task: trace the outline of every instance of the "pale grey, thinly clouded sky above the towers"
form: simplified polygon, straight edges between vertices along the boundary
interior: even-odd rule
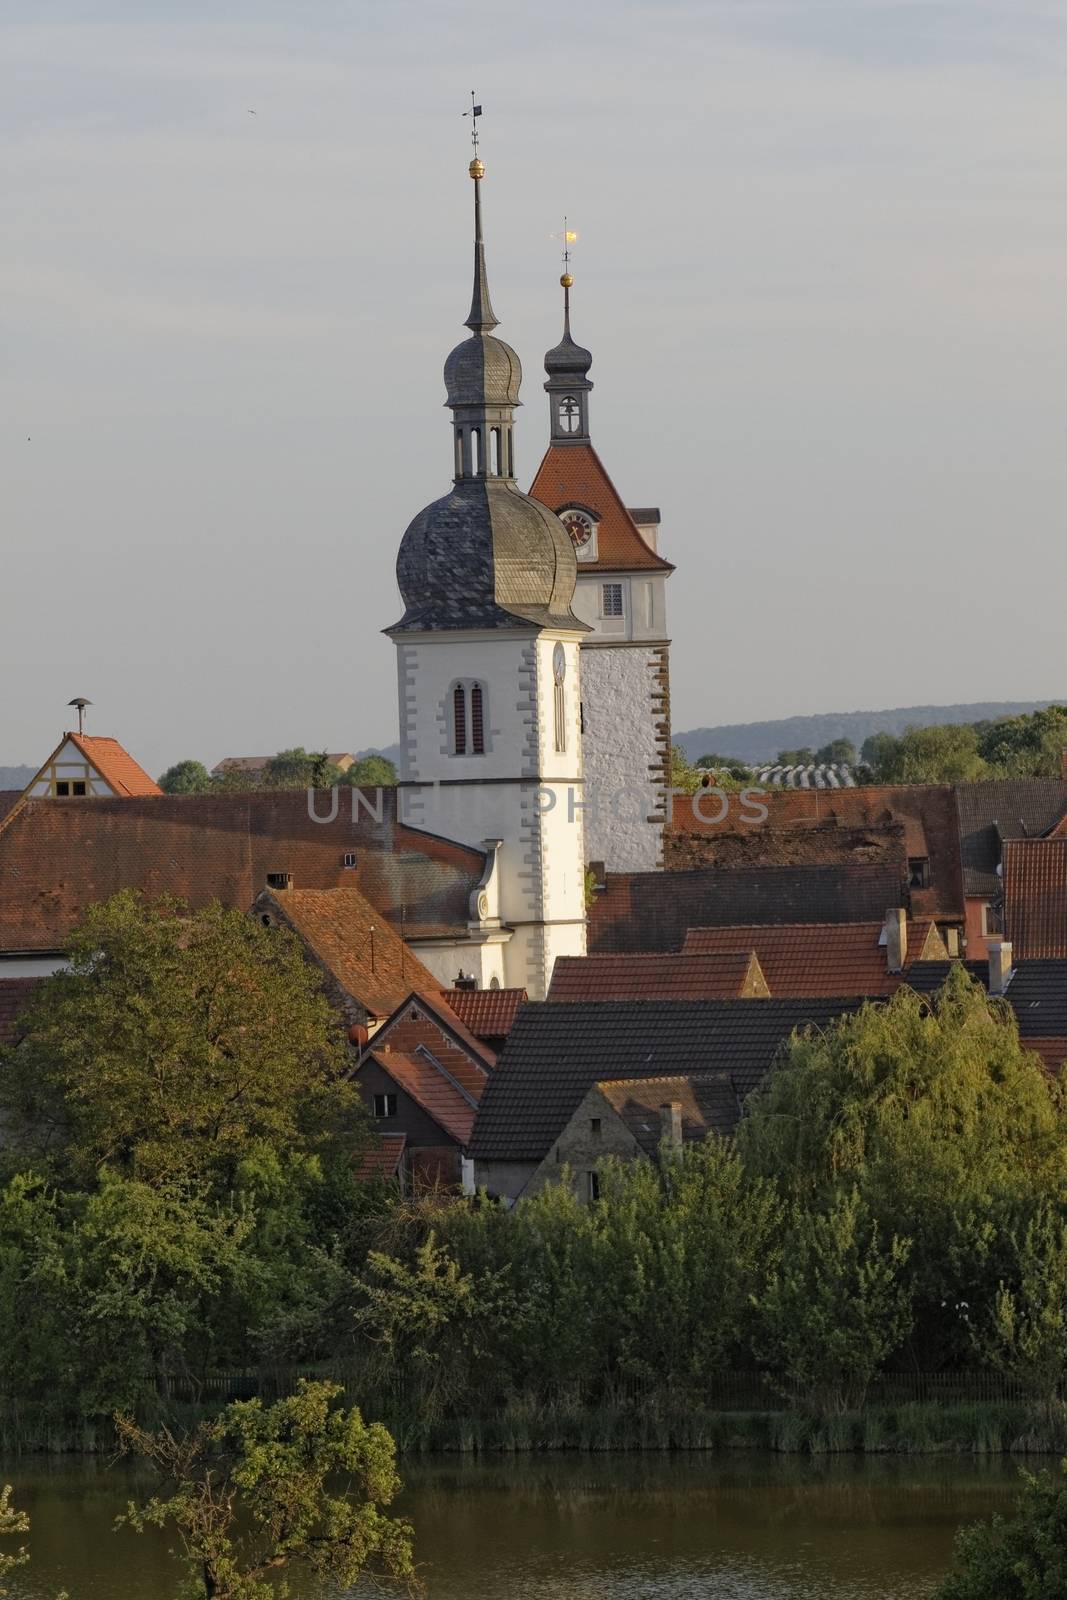
[[[397,734],[477,90],[501,334],[593,352],[677,728],[1062,696],[1067,6],[0,0],[0,763]]]

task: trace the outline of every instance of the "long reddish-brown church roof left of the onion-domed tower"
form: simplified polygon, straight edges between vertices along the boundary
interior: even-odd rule
[[[379,798],[381,821],[366,810]],[[269,872],[298,890],[358,888],[413,939],[466,933],[482,851],[405,827],[395,789],[336,800],[331,822],[309,816],[304,790],[27,800],[0,827],[0,950],[62,949],[85,907],[122,888],[248,910]],[[331,797],[315,805],[325,818]]]

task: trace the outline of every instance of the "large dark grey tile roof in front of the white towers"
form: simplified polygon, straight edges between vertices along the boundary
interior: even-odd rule
[[[806,1022],[859,1000],[637,1000],[526,1005],[485,1086],[470,1146],[483,1162],[539,1162],[590,1085],[728,1072],[741,1098]]]

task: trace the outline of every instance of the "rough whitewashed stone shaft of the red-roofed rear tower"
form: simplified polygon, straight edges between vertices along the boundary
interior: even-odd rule
[[[656,661],[640,648],[582,651],[585,859],[609,872],[654,872],[662,864],[659,757],[653,694]]]

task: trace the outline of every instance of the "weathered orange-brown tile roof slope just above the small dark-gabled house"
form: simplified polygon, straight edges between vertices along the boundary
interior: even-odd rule
[[[389,1016],[434,974],[357,888],[266,890],[256,910],[290,926],[309,952],[371,1016]]]

